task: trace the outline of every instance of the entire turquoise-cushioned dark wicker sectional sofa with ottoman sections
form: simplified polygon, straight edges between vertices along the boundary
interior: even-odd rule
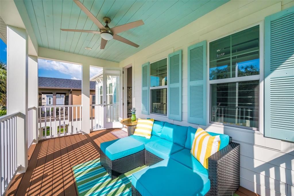
[[[101,165],[112,178],[147,165],[132,175],[132,195],[233,195],[240,185],[240,144],[209,132],[221,142],[205,169],[190,153],[195,132],[154,121],[150,139],[131,135],[101,143]]]

